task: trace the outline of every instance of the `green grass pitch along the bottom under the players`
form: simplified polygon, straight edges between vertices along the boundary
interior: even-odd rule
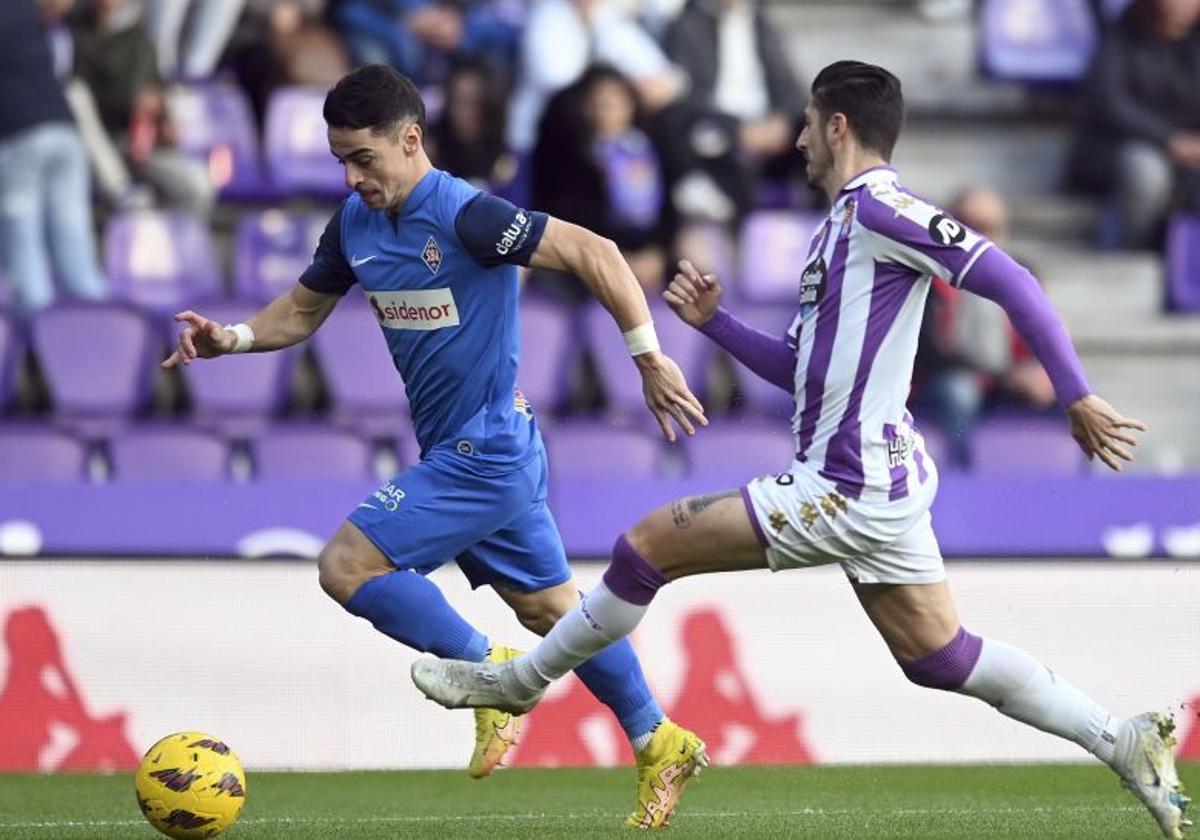
[[[1200,764],[1181,767],[1200,790]],[[251,773],[230,840],[619,838],[634,770]],[[152,840],[128,775],[0,775],[5,840]],[[709,768],[667,838],[1153,840],[1099,766]]]

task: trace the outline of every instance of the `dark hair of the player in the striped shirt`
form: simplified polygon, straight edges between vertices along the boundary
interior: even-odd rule
[[[900,79],[883,67],[833,62],[812,79],[812,106],[822,121],[844,114],[859,143],[892,160],[904,125],[904,92]]]

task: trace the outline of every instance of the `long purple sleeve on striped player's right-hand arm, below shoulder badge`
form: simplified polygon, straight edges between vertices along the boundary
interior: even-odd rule
[[[1063,408],[1092,392],[1067,328],[1028,269],[991,247],[964,277],[962,288],[1000,304],[1008,313],[1016,332],[1046,368]]]

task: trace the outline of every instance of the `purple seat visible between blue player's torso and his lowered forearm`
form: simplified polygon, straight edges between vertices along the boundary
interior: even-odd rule
[[[517,388],[534,412],[552,414],[570,395],[580,353],[575,313],[544,298],[521,299],[521,368]]]

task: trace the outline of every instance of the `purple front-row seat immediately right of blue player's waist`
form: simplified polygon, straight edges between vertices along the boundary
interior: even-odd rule
[[[647,432],[601,422],[559,422],[542,430],[552,476],[652,479],[661,446]]]

